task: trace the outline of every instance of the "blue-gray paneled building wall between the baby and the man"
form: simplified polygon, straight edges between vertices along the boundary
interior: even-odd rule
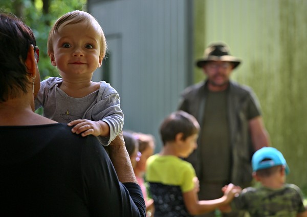
[[[119,92],[124,129],[154,135],[159,151],[159,125],[192,82],[192,1],[89,1],[87,7],[109,49],[93,79]]]

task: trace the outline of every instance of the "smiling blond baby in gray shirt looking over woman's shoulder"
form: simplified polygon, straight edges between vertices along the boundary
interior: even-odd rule
[[[35,109],[43,116],[73,126],[81,136],[99,136],[108,145],[122,131],[124,115],[117,91],[105,81],[93,82],[101,67],[106,40],[98,21],[84,11],[56,20],[48,37],[48,56],[59,77],[43,80]]]

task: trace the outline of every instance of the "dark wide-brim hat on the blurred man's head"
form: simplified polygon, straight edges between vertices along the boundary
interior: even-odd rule
[[[230,55],[229,47],[222,42],[209,45],[205,50],[204,57],[196,61],[196,66],[203,68],[204,64],[209,61],[232,62],[233,69],[235,69],[241,62],[239,58]]]

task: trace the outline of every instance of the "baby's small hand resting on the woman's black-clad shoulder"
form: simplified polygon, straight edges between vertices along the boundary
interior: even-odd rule
[[[69,126],[74,126],[72,132],[81,134],[81,136],[108,136],[109,126],[104,121],[91,121],[86,119],[78,119],[68,123]]]

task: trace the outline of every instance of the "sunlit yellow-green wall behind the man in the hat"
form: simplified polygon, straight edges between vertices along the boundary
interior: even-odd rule
[[[243,63],[232,78],[257,94],[272,146],[286,157],[288,182],[307,192],[307,1],[194,0],[194,60],[224,41]],[[204,79],[194,70],[194,81]]]

